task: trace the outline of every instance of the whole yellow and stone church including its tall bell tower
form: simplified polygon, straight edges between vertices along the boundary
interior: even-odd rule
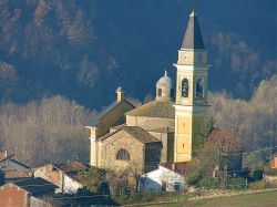
[[[86,126],[92,166],[119,170],[135,167],[144,174],[160,164],[192,161],[196,135],[208,120],[209,66],[194,11],[177,54],[176,81],[165,71],[156,82],[154,101],[135,107],[119,87],[116,101]]]

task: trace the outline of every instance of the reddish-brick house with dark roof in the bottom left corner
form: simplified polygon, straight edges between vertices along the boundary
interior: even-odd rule
[[[0,206],[49,206],[55,188],[55,185],[42,178],[29,178],[9,183],[0,187]],[[50,200],[48,201],[48,199]]]

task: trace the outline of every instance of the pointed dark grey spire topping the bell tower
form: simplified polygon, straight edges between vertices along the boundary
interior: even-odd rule
[[[205,49],[197,15],[193,11],[186,28],[186,34],[181,49]]]

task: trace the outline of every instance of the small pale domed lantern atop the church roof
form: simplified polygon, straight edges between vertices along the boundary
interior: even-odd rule
[[[167,72],[164,72],[162,76],[156,82],[156,100],[157,101],[170,101],[173,100],[174,95],[174,83],[173,80],[167,75]]]

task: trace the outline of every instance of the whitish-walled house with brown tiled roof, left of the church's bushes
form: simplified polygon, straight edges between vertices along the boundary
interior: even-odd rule
[[[78,177],[78,172],[88,169],[88,166],[79,162],[64,164],[48,164],[34,169],[34,177],[42,177],[58,186],[55,193],[75,194],[84,187]]]

